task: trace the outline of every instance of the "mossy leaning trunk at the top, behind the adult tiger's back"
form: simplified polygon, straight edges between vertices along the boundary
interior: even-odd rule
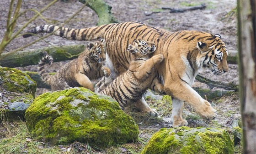
[[[81,3],[85,4],[87,7],[94,10],[99,17],[97,25],[104,25],[110,23],[118,22],[112,15],[112,7],[107,5],[104,0],[79,0]]]

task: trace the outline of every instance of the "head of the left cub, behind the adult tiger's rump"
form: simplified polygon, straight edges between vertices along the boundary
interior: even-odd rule
[[[92,60],[102,62],[106,59],[105,39],[102,39],[101,41],[90,42],[87,45],[87,49],[90,51]]]

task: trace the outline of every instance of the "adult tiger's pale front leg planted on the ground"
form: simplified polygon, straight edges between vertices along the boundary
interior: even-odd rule
[[[182,110],[184,102],[179,99],[172,99],[172,114],[171,123],[172,127],[187,126],[187,120],[182,118]]]

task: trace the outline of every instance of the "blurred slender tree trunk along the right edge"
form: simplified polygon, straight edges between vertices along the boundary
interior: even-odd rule
[[[256,0],[238,0],[243,154],[256,154]]]

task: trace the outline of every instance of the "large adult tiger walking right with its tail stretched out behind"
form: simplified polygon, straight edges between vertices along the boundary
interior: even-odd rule
[[[212,35],[201,31],[170,32],[155,26],[138,22],[122,22],[100,25],[85,29],[69,29],[53,25],[41,25],[29,33],[53,33],[70,40],[106,40],[106,62],[112,70],[110,77],[116,78],[118,74],[128,69],[131,55],[127,51],[129,42],[137,38],[155,42],[157,50],[154,55],[162,54],[164,60],[155,70],[164,84],[166,94],[172,96],[171,122],[173,127],[187,125],[182,119],[184,101],[192,105],[203,119],[214,119],[216,110],[191,88],[192,83],[201,68],[209,68],[215,75],[229,70],[225,44],[220,35]],[[23,37],[32,34],[23,35]],[[116,75],[114,74],[116,72]],[[111,78],[109,78],[111,79]],[[151,115],[158,114],[150,109],[143,97],[135,102],[139,109]]]

